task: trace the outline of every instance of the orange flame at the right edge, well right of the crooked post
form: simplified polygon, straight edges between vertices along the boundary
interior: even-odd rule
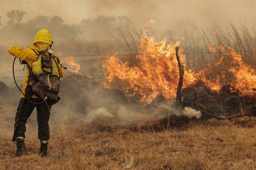
[[[211,47],[216,51],[215,48]],[[219,91],[223,85],[230,84],[230,91],[239,92],[240,95],[255,95],[256,88],[256,70],[252,66],[242,61],[242,55],[235,52],[229,46],[220,46],[220,54],[218,61],[215,64],[208,65],[203,72],[219,72],[215,76],[209,74],[202,75],[202,80],[207,82],[210,88]],[[209,49],[209,51],[211,51]],[[230,52],[226,52],[230,51]],[[217,56],[218,57],[218,56]],[[235,89],[234,89],[235,88]]]

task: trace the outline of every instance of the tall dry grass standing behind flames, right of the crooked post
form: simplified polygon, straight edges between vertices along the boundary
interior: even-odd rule
[[[243,61],[255,68],[256,31],[254,28],[247,28],[245,23],[235,26],[232,23],[221,25],[212,21],[212,28],[209,30],[195,27],[195,35],[196,37],[193,37],[185,33],[185,40],[181,43],[183,49],[185,49],[185,53],[195,53],[186,54],[189,68],[195,69],[196,71],[201,70],[206,64],[214,63],[221,55],[225,55],[218,48],[216,48],[217,53],[207,54],[209,52],[207,49],[209,43],[214,47],[227,45],[235,51],[241,51]]]

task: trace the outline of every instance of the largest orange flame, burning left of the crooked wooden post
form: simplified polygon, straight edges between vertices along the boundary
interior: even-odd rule
[[[156,42],[153,37],[146,35],[148,30],[143,29],[141,45],[136,56],[137,65],[130,67],[129,62],[121,62],[117,57],[110,57],[104,64],[108,82],[105,88],[117,88],[128,96],[139,95],[140,101],[152,102],[158,95],[169,99],[175,96],[179,68],[175,56],[175,47],[179,42],[166,46],[166,39]],[[183,50],[180,50],[180,59],[186,65]],[[184,74],[185,85],[195,81],[191,71]]]

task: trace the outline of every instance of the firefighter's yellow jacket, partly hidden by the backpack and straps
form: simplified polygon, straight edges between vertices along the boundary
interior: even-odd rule
[[[49,45],[44,42],[39,42],[39,43],[36,42],[33,45],[30,45],[29,47],[36,49],[38,51],[45,51],[48,46]],[[26,61],[28,63],[28,65],[30,67],[32,67],[32,63],[38,58],[38,55],[35,54],[35,52],[30,48],[21,48],[19,46],[14,46],[12,48],[9,48],[8,52],[19,59],[23,59],[24,61]],[[49,55],[48,52],[42,52],[42,53],[45,55]],[[64,69],[61,67],[61,64],[58,62],[57,57],[54,57],[54,59],[58,63],[58,68],[60,68],[60,77],[64,77],[64,74],[65,74]],[[23,88],[22,88],[22,91],[24,94],[25,94],[25,89],[28,84],[28,78],[29,78],[29,68],[28,68],[28,66],[26,66],[26,68],[28,69],[28,71],[26,73],[26,76],[23,79]],[[30,80],[30,82],[31,82],[31,80]],[[23,94],[21,94],[20,97],[25,98],[23,96]],[[33,95],[32,98],[38,98],[38,97]]]

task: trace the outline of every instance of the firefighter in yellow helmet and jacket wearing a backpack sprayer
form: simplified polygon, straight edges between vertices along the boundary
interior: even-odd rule
[[[64,76],[64,68],[62,68],[59,59],[52,54],[52,43],[51,33],[46,29],[41,29],[36,34],[35,40],[33,44],[29,46],[29,48],[21,48],[20,46],[9,48],[9,53],[19,59],[24,60],[26,62],[26,68],[28,69],[26,76],[23,79],[22,94],[15,116],[14,135],[12,138],[12,141],[16,141],[17,145],[15,156],[22,156],[27,154],[27,149],[24,143],[26,122],[35,108],[37,110],[38,139],[41,142],[39,154],[44,157],[47,156],[48,153],[47,144],[50,137],[48,122],[51,112],[50,110],[51,106],[58,102],[60,99],[58,97],[58,93],[56,93],[56,91],[58,92],[59,87],[59,81],[57,80]],[[44,60],[44,58],[47,58],[48,60]],[[50,64],[50,67],[45,67],[50,69],[52,72],[45,73],[46,71],[44,70],[44,61],[48,61],[47,64],[48,66]],[[33,71],[36,72],[36,74],[33,73]],[[54,93],[49,91],[49,89],[46,89],[47,95],[38,95],[34,93],[35,91],[32,91],[32,89],[35,87],[41,87],[36,86],[40,85],[40,83],[38,83],[39,79],[40,81],[42,80],[42,78],[38,77],[38,75],[46,75],[46,77],[48,76],[48,81],[45,80],[45,82],[50,86],[49,89],[52,88],[51,80],[55,80],[57,84],[54,84],[53,82],[55,87]],[[49,79],[49,77],[52,77],[52,79]],[[28,88],[29,85],[32,85],[31,88]],[[42,89],[44,88],[41,87],[40,91],[42,91]],[[31,96],[28,97],[29,95],[27,93],[31,93]],[[50,99],[51,95],[48,94],[57,95],[58,100],[52,101]],[[49,99],[47,99],[47,97]]]

